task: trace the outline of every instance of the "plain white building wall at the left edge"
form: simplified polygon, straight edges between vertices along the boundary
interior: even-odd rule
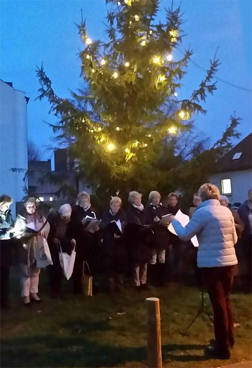
[[[16,216],[15,202],[24,197],[24,172],[11,172],[12,167],[28,169],[27,103],[25,92],[0,80],[0,194],[14,199],[11,206]]]

